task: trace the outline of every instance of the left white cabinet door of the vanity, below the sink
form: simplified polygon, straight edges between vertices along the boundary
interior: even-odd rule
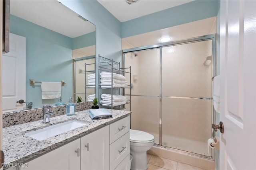
[[[80,170],[80,139],[27,163],[28,167],[20,170]]]

